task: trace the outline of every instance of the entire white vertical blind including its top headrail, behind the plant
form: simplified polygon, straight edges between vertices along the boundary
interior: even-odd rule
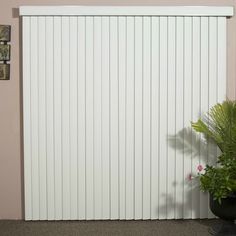
[[[210,218],[190,128],[226,96],[231,7],[21,7],[26,220]]]

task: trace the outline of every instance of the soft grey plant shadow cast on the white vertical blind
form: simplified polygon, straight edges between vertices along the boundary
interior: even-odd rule
[[[175,150],[176,162],[178,161],[178,157],[183,157],[183,161],[190,158],[192,167],[189,171],[184,170],[184,175],[183,178],[181,177],[181,180],[176,179],[173,181],[172,186],[174,191],[172,191],[172,193],[163,194],[161,196],[166,199],[167,206],[160,206],[159,214],[167,215],[168,218],[169,209],[172,209],[172,212],[173,209],[175,209],[175,218],[200,218],[202,215],[200,212],[201,204],[208,206],[208,197],[207,194],[200,193],[199,179],[195,178],[190,181],[187,172],[189,174],[193,173],[196,175],[198,164],[205,165],[206,163],[214,163],[217,148],[211,140],[197,134],[191,127],[182,129],[176,135],[169,135],[168,145],[170,148]],[[196,164],[196,166],[194,164]],[[183,195],[181,197],[178,196],[178,199],[182,198],[182,201],[178,202],[178,199],[176,198],[178,194],[176,189],[181,188],[183,189]],[[205,195],[203,201],[206,202],[200,203],[200,194],[202,194],[202,196]],[[207,212],[208,209],[204,209],[204,213],[207,214]]]

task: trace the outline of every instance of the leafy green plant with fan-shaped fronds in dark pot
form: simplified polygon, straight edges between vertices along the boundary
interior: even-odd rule
[[[236,101],[216,104],[202,119],[191,124],[221,150],[216,165],[207,165],[204,173],[199,172],[201,189],[221,202],[236,193]]]

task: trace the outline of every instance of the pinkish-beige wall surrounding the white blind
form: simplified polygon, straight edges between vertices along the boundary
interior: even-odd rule
[[[0,81],[0,219],[21,219],[23,212],[22,78],[19,17],[21,5],[235,5],[233,0],[0,0],[0,24],[12,26],[11,80]],[[236,17],[228,20],[229,98],[236,91]]]

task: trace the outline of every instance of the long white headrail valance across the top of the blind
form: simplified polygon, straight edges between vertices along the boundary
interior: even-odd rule
[[[21,16],[233,16],[233,6],[21,6]]]

